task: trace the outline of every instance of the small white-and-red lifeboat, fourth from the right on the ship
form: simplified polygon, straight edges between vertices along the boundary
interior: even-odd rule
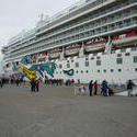
[[[61,52],[62,52],[61,48],[55,48],[55,49],[49,50],[48,55],[50,58],[58,58]]]

